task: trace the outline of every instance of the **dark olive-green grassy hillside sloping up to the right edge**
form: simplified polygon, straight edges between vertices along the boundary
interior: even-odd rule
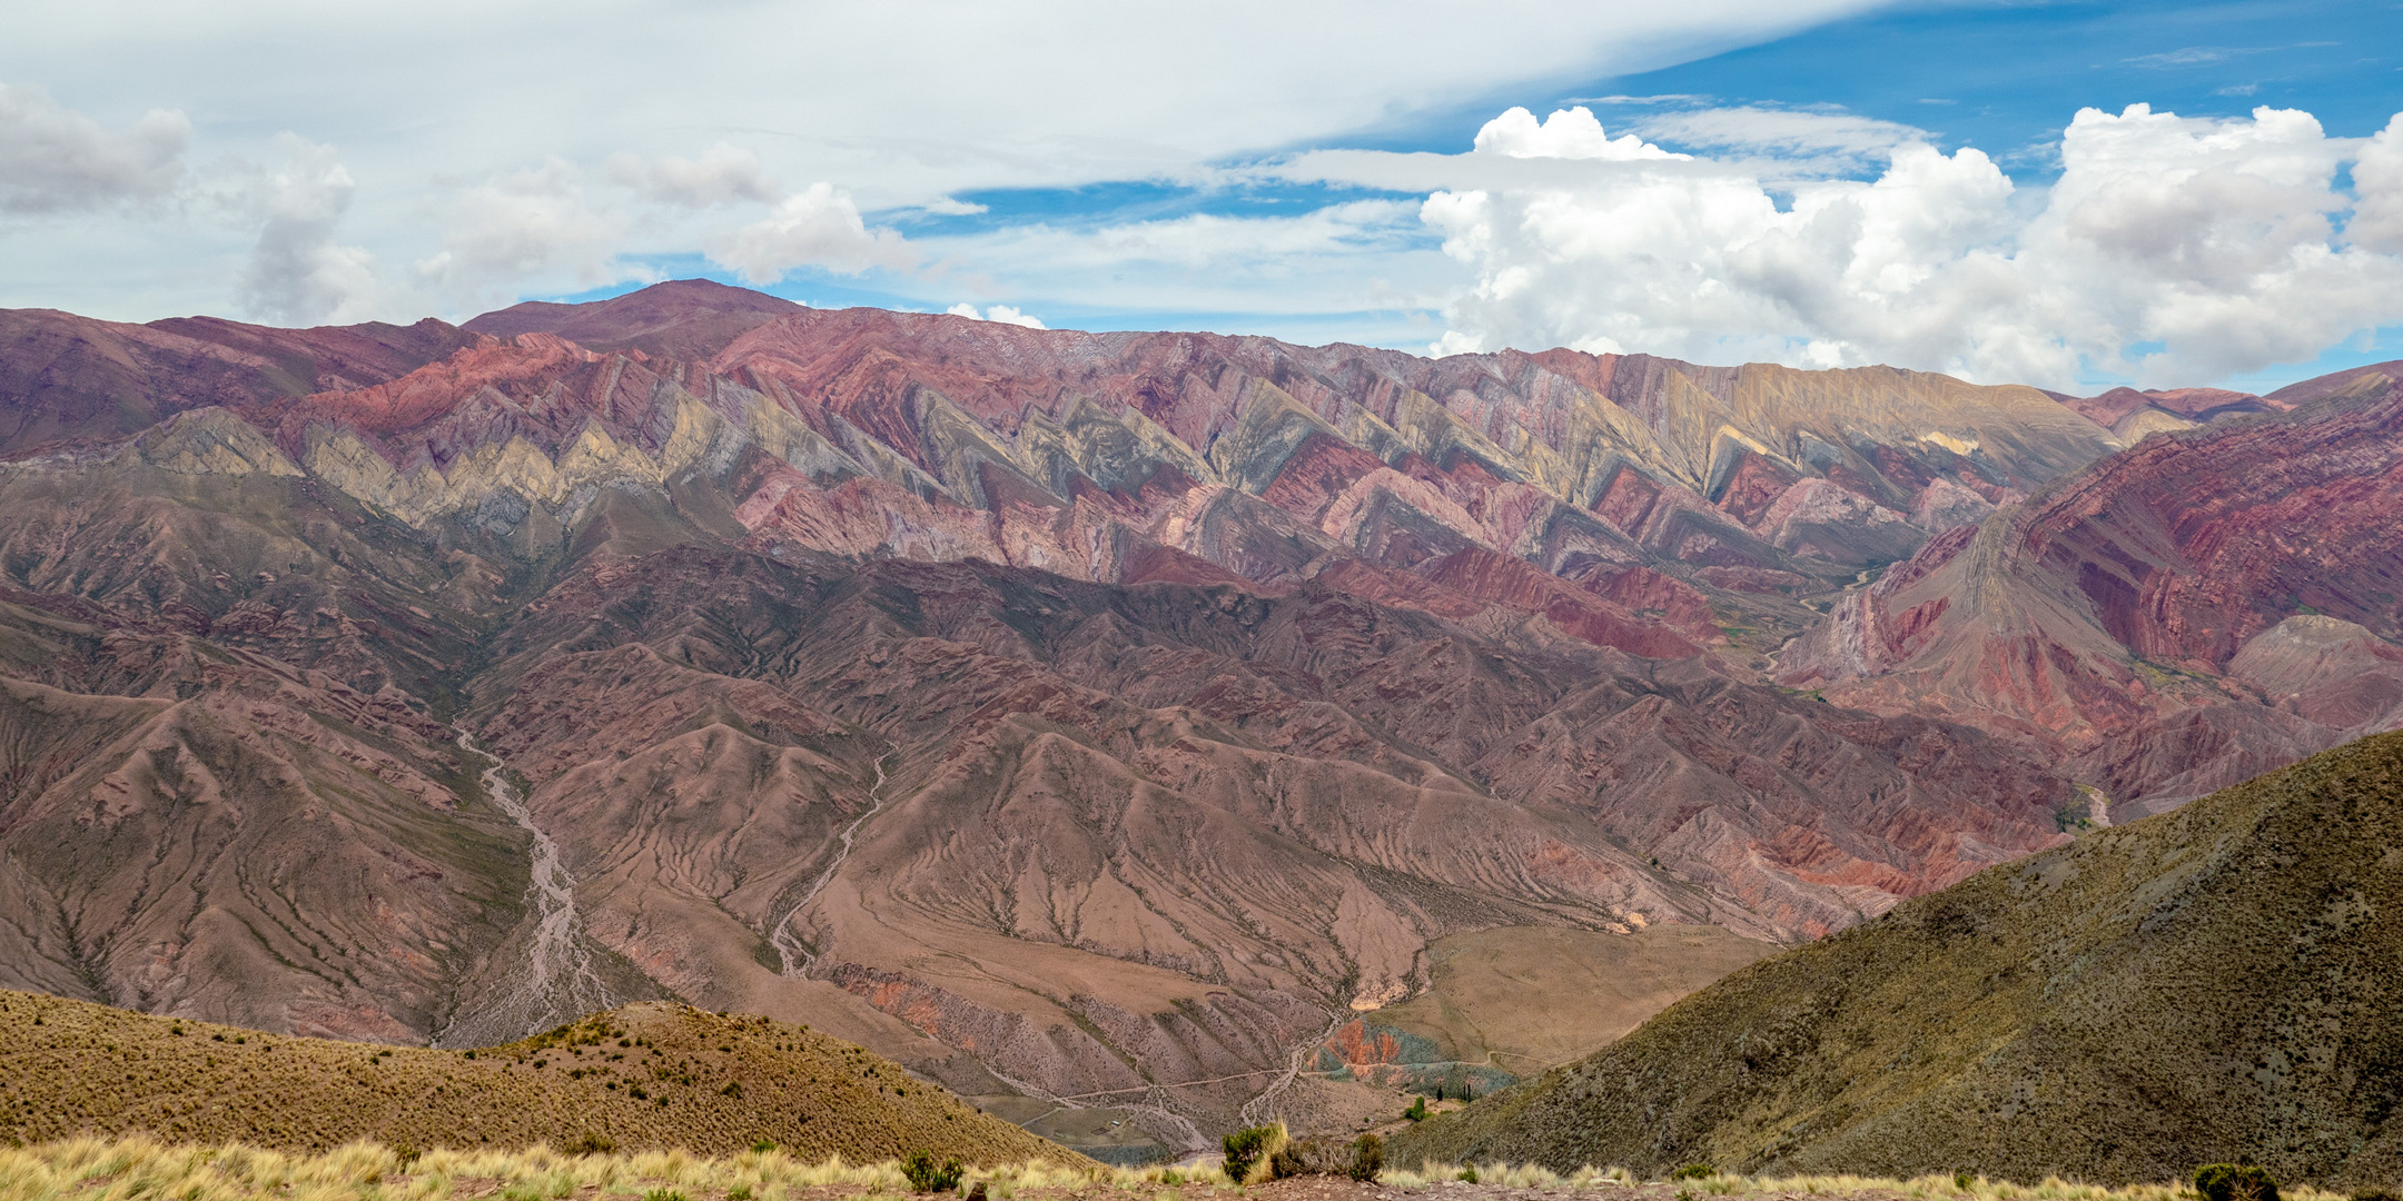
[[[1389,1163],[2403,1177],[2403,733],[1992,867],[1399,1136]]]

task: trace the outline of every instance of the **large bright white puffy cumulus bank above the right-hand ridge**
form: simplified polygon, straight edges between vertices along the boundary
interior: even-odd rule
[[[1776,135],[1754,115],[1728,130],[1747,123],[1752,142]],[[1788,137],[1862,149],[1896,132],[1795,125]],[[1478,168],[1545,151],[1591,166],[1555,178]],[[1759,163],[1675,161],[1608,139],[1579,110],[1540,127],[1504,113],[1451,159],[1411,163],[1490,183],[1439,187],[1420,209],[1475,276],[1447,307],[1437,353],[1896,363],[2074,387],[2086,365],[2225,377],[2403,319],[2403,125],[2365,144],[2297,110],[2088,108],[2062,137],[2059,180],[2033,195],[1978,149],[1910,137],[1874,180],[1788,183],[1781,199]],[[2355,195],[2336,185],[2348,161]]]

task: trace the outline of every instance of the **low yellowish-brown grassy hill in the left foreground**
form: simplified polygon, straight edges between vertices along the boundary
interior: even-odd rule
[[[485,1050],[269,1035],[0,990],[0,1141],[690,1148],[1084,1163],[805,1026],[630,1004]]]

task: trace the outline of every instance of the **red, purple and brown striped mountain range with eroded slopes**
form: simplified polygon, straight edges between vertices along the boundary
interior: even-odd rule
[[[2396,380],[5,312],[0,985],[1353,1122],[1528,1071],[1382,1026],[1435,944],[1800,944],[2403,725]]]

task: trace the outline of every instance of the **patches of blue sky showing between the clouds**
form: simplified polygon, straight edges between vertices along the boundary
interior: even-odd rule
[[[1466,147],[1499,108],[1536,113],[1584,103],[1605,127],[1663,113],[1778,106],[1841,110],[1927,130],[1939,149],[1978,147],[2026,185],[2059,175],[2062,127],[2079,108],[2122,110],[2151,103],[2180,115],[2244,118],[2256,106],[2302,108],[2333,137],[2369,137],[2403,110],[2403,5],[2396,2],[1944,2],[1896,5],[1826,22],[1759,46],[1706,55],[1663,70],[1603,74],[1543,86],[1499,89],[1444,113],[1415,115],[1329,139],[1377,151]],[[1677,139],[1660,144],[1682,149]],[[1278,147],[1247,159],[1274,159]],[[1240,166],[1235,159],[1223,166]],[[1862,173],[1867,175],[1867,171]],[[1411,192],[1331,185],[1177,185],[1113,180],[1086,187],[973,190],[968,216],[872,214],[899,219],[916,235],[966,238],[1048,223],[1101,228],[1192,214],[1264,216],[1336,199],[1415,199]],[[1439,238],[1427,231],[1425,247]],[[661,259],[668,274],[735,281],[697,255]],[[634,283],[586,288],[601,298]],[[800,271],[764,291],[812,305],[928,307],[916,288],[877,288],[872,279]],[[1266,331],[1300,341],[1367,341],[1423,351],[1442,317],[1435,310],[1180,310],[1113,307],[1077,295],[1019,293],[1016,307],[1055,327]],[[2403,358],[2403,322],[2365,329],[2302,363],[2273,363],[2218,380],[2271,389],[2360,363]],[[2127,372],[2086,370],[2107,387]]]

